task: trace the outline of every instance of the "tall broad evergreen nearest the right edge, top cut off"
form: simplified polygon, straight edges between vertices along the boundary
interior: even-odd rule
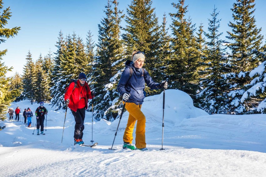
[[[230,110],[232,114],[243,114],[249,112],[253,107],[257,107],[256,100],[245,100],[241,102],[243,93],[248,89],[246,84],[251,82],[248,72],[257,67],[261,62],[258,52],[261,51],[263,36],[260,34],[261,28],[256,27],[254,17],[254,0],[237,0],[231,9],[234,22],[229,22],[232,32],[227,32],[228,39],[233,42],[229,45],[232,50],[230,71],[232,77],[228,79],[230,87]]]

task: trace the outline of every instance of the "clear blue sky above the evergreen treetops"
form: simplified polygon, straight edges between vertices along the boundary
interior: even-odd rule
[[[86,39],[88,30],[91,30],[93,39],[98,42],[98,24],[105,17],[103,10],[107,0],[3,0],[4,8],[11,8],[12,17],[8,21],[7,28],[20,26],[21,30],[14,38],[9,38],[0,45],[0,50],[7,49],[7,55],[3,57],[6,66],[13,66],[12,72],[7,76],[13,76],[17,71],[23,73],[26,55],[28,51],[32,53],[33,60],[37,60],[39,55],[47,55],[49,49],[56,51],[56,42],[58,33],[62,30],[64,36],[72,34]],[[119,8],[124,10],[131,3],[131,0],[118,0]],[[152,7],[155,7],[155,13],[161,24],[163,14],[167,15],[168,25],[171,23],[169,12],[175,13],[176,9],[172,7],[171,2],[177,0],[154,0]],[[226,40],[226,31],[231,31],[228,27],[232,19],[233,3],[236,0],[185,0],[185,5],[189,5],[187,15],[192,18],[192,23],[198,27],[202,22],[204,30],[208,27],[208,18],[213,12],[214,5],[219,11],[220,32],[223,32],[222,40]],[[262,27],[261,34],[266,35],[265,24],[265,0],[255,0],[256,11],[254,13],[257,27]],[[3,10],[3,9],[2,9]],[[1,12],[2,12],[1,10]],[[125,22],[122,22],[125,26]],[[171,31],[170,31],[171,32]]]

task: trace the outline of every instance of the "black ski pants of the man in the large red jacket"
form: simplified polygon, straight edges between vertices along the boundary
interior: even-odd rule
[[[74,138],[75,139],[82,139],[83,137],[83,130],[84,130],[84,119],[85,119],[85,107],[81,109],[77,109],[77,111],[72,111],[73,116],[75,117],[75,131],[74,131]]]

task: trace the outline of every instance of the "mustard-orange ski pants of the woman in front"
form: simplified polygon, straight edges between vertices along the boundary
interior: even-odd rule
[[[137,121],[136,138],[135,138],[136,148],[146,147],[146,141],[145,141],[146,118],[143,112],[140,111],[141,105],[136,105],[135,103],[126,103],[125,108],[129,112],[129,116],[125,133],[123,136],[123,141],[130,144],[132,143],[133,129],[135,126],[135,122]]]

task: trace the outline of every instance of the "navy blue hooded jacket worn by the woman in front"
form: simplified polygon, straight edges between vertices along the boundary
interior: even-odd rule
[[[151,89],[161,89],[160,84],[153,81],[150,77],[148,71],[144,69],[144,74],[142,73],[142,69],[135,68],[134,63],[131,60],[126,61],[126,69],[121,74],[120,81],[117,85],[118,92],[123,95],[124,93],[129,93],[130,97],[127,100],[129,103],[135,103],[136,105],[140,105],[143,103],[145,98],[144,89],[145,83]],[[129,79],[130,69],[133,69],[132,76]]]

